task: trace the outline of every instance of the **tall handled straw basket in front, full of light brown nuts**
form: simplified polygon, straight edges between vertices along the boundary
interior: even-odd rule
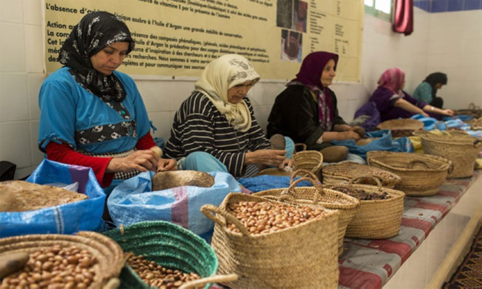
[[[242,201],[282,204],[254,195],[230,193],[219,207],[202,206],[202,213],[216,222],[211,246],[219,258],[219,273],[240,276],[229,283],[230,288],[337,287],[337,211],[325,209],[324,217],[273,233],[250,234],[227,211],[231,204]],[[240,233],[229,230],[227,221]]]

